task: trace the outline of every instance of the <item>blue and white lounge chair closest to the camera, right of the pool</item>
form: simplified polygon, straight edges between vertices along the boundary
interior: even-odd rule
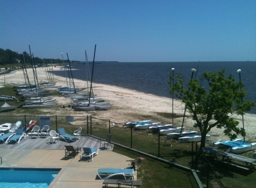
[[[97,176],[99,176],[101,180],[109,179],[113,176],[123,176],[125,180],[126,176],[128,176],[128,180],[132,180],[134,170],[130,168],[99,168]]]

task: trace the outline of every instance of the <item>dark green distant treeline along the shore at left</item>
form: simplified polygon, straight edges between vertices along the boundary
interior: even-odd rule
[[[41,59],[39,57],[32,57],[30,58],[30,54],[24,51],[23,53],[17,53],[14,52],[10,49],[1,49],[0,48],[0,66],[4,67],[5,65],[19,65],[23,64],[24,65],[24,59],[25,59],[25,64],[26,66],[31,66],[31,65],[45,65],[45,64],[61,64],[63,63],[62,59]],[[67,63],[67,60],[64,60]],[[73,61],[72,63],[77,63],[80,61]]]

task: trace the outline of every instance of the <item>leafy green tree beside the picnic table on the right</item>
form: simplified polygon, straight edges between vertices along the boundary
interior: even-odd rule
[[[226,77],[225,69],[203,74],[202,79],[208,82],[208,89],[197,79],[190,79],[188,89],[185,89],[184,79],[180,75],[175,77],[178,79],[175,84],[169,82],[170,93],[185,103],[185,109],[195,120],[193,127],[201,132],[201,149],[205,147],[206,134],[213,127],[224,128],[224,134],[231,139],[239,134],[246,135],[243,128],[237,127],[239,122],[232,118],[232,115],[243,115],[255,106],[252,101],[243,101],[248,92],[242,89],[242,82],[235,82],[232,74]],[[171,74],[170,78],[173,78]]]

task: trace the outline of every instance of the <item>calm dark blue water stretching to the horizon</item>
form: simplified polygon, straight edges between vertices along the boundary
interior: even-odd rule
[[[226,73],[233,74],[237,82],[239,81],[239,74],[236,71],[241,69],[241,81],[245,85],[244,89],[248,91],[246,99],[256,102],[256,61],[102,62],[94,64],[92,81],[171,98],[168,74],[172,74],[172,68],[175,68],[174,74],[180,74],[187,80],[192,76],[192,68],[197,69],[197,74],[193,74],[193,78],[198,79],[202,77],[204,72],[215,72],[225,68]],[[71,69],[74,78],[85,81],[87,78],[91,80],[85,64],[71,64]],[[92,74],[92,64],[89,64],[89,69],[89,74]],[[65,77],[64,71],[54,71],[54,74]],[[85,86],[87,86],[86,83]],[[254,107],[250,113],[256,114],[256,108]]]

